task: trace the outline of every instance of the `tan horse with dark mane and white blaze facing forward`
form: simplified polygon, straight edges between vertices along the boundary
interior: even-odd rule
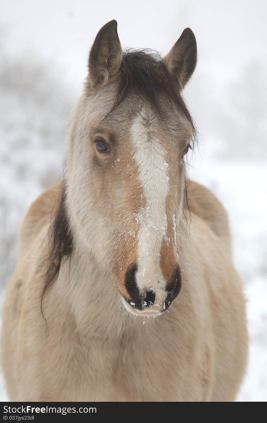
[[[161,58],[98,32],[64,178],[30,206],[3,306],[11,401],[234,401],[247,363],[228,215],[186,176],[186,28]]]

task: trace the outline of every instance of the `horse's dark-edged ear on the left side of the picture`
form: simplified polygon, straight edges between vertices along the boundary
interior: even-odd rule
[[[88,60],[90,82],[93,85],[105,84],[120,70],[122,58],[117,21],[113,20],[104,25],[95,37]]]

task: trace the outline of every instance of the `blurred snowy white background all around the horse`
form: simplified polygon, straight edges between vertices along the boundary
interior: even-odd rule
[[[246,283],[250,359],[240,401],[267,400],[267,2],[9,0],[0,17],[0,304],[30,203],[62,172],[70,113],[104,23],[123,47],[198,43],[185,98],[200,133],[191,175],[229,211]],[[0,400],[5,400],[0,379]]]

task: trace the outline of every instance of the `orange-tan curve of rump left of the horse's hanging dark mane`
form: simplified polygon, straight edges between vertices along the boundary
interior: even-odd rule
[[[62,182],[59,182],[42,192],[30,205],[19,230],[19,257],[25,254],[41,229],[51,221],[61,190]]]

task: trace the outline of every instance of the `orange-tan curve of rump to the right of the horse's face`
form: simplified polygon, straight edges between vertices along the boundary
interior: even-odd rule
[[[231,234],[226,209],[211,190],[188,179],[188,204],[191,213],[196,214],[221,239],[225,250],[231,255]]]

